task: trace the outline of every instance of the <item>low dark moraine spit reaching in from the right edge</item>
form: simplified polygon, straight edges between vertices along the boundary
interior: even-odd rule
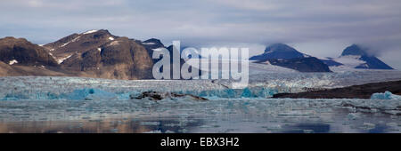
[[[304,98],[304,99],[370,99],[375,92],[391,91],[394,94],[401,93],[401,81],[382,83],[366,83],[344,88],[336,88],[321,91],[306,91],[299,93],[279,93],[273,98]]]

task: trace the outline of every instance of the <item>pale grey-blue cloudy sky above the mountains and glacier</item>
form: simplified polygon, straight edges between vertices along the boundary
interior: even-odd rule
[[[401,69],[399,0],[1,0],[0,36],[46,44],[89,29],[192,46],[290,44],[336,57],[350,44]]]

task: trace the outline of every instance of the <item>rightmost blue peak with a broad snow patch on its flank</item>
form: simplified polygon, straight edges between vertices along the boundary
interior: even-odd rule
[[[386,63],[373,55],[368,54],[366,50],[359,45],[352,44],[348,46],[338,58],[327,58],[322,60],[330,67],[339,68],[366,68],[366,69],[393,69]]]

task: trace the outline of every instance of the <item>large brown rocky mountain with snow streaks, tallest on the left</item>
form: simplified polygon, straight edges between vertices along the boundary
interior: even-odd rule
[[[46,44],[61,68],[83,71],[93,77],[150,79],[153,62],[139,41],[112,36],[108,30],[73,34]]]

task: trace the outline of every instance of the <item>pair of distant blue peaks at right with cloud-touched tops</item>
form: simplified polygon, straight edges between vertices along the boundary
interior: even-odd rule
[[[317,59],[298,52],[286,44],[272,44],[266,47],[264,53],[253,56],[250,60],[267,63],[283,68],[292,68],[300,72],[330,72],[329,67],[393,69],[366,50],[353,44],[347,47],[338,58]]]

